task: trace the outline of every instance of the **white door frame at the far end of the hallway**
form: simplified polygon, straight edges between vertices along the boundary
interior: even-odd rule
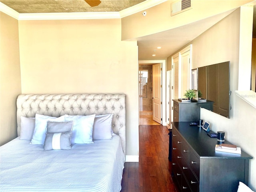
[[[166,60],[138,60],[138,66],[140,64],[158,64],[158,63],[162,64],[162,125],[166,126]],[[139,98],[140,96],[138,94],[138,99]],[[138,106],[138,110],[139,110],[139,106]],[[139,110],[139,113],[140,113],[140,110]]]

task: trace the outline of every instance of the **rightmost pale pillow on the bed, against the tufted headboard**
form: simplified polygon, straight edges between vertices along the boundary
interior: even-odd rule
[[[92,140],[112,139],[112,119],[113,114],[95,116]]]

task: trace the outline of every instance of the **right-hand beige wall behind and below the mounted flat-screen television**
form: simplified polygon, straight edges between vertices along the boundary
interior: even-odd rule
[[[201,109],[200,118],[209,122],[214,132],[224,131],[228,141],[240,146],[254,157],[249,165],[249,186],[255,190],[256,109],[235,94],[235,90],[238,90],[239,65],[244,64],[239,62],[242,60],[239,56],[243,57],[243,52],[245,55],[246,52],[251,52],[251,42],[248,41],[247,51],[246,48],[240,50],[240,22],[244,22],[240,21],[240,17],[248,13],[251,14],[247,8],[235,10],[189,44],[192,44],[193,49],[192,68],[230,61],[231,118],[225,118],[205,109]],[[242,26],[244,27],[244,24]],[[250,73],[245,75],[250,76]]]

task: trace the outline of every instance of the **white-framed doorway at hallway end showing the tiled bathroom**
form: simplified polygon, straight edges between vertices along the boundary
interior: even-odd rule
[[[152,65],[161,63],[162,64],[162,86],[161,90],[161,117],[162,125],[166,126],[166,96],[165,92],[165,69],[166,69],[166,60],[140,60],[139,63],[139,117],[140,125],[161,125],[158,122],[153,120],[153,86],[152,86]]]

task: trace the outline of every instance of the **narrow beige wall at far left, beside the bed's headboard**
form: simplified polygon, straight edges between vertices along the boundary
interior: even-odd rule
[[[18,21],[0,12],[0,145],[17,137],[16,98],[21,93]]]

